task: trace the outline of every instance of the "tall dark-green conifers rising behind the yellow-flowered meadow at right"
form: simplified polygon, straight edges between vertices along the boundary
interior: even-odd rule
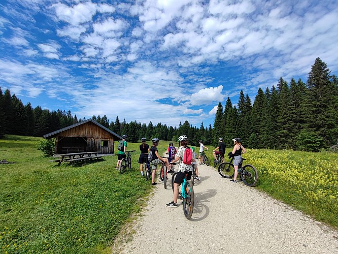
[[[250,148],[319,151],[337,144],[338,80],[316,58],[307,83],[280,78],[277,87],[259,88],[254,103],[240,92],[238,105],[219,103],[213,126],[217,137],[241,137]]]

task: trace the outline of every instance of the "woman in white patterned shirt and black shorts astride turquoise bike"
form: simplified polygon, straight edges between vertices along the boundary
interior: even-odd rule
[[[175,160],[172,161],[171,163],[178,162],[180,160],[179,164],[179,171],[176,175],[175,181],[174,181],[174,198],[173,201],[166,204],[167,207],[177,207],[177,199],[178,199],[178,186],[183,182],[185,178],[186,172],[188,172],[187,179],[191,179],[192,175],[192,165],[184,164],[183,163],[183,157],[184,157],[184,152],[188,148],[188,138],[187,136],[183,135],[179,137],[179,142],[180,142],[180,147],[177,151]],[[192,162],[195,162],[195,159],[192,157]]]

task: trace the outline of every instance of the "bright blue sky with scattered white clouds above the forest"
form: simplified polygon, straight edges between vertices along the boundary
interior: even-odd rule
[[[316,57],[338,71],[336,1],[0,3],[0,86],[50,110],[127,122],[213,125]]]

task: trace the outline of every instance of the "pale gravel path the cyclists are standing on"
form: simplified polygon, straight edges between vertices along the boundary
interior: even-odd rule
[[[282,202],[199,166],[190,220],[159,182],[119,253],[338,253],[338,232]],[[123,239],[123,237],[122,237]]]

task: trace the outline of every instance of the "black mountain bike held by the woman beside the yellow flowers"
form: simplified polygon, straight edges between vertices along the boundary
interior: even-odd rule
[[[258,181],[258,171],[254,166],[252,166],[250,164],[242,166],[242,163],[245,160],[247,160],[247,159],[242,158],[242,162],[238,166],[238,174],[241,176],[241,179],[242,179],[242,181],[244,182],[245,185],[255,186],[257,181]],[[233,158],[230,162],[232,162],[232,161],[233,161]],[[224,173],[224,172],[226,172],[227,169],[228,169],[228,173]],[[233,164],[228,163],[228,162],[221,163],[218,166],[218,172],[219,173],[223,172],[224,175],[222,175],[221,173],[220,173],[220,175],[225,177],[225,178],[233,177],[233,175],[234,175]]]

